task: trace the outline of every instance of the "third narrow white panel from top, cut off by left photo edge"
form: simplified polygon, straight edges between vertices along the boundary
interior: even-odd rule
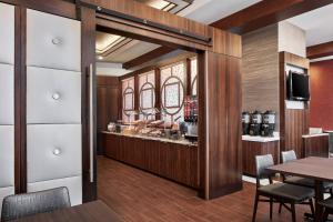
[[[0,125],[0,188],[14,185],[13,125]]]

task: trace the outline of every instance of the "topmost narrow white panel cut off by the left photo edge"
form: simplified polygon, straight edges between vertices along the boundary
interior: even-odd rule
[[[14,7],[0,3],[0,63],[14,63]]]

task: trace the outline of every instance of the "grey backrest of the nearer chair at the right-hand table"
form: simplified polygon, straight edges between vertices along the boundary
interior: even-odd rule
[[[268,171],[266,169],[274,165],[274,160],[271,154],[256,155],[255,157],[255,168],[256,168],[256,185],[260,186],[261,179],[270,179],[275,173]]]

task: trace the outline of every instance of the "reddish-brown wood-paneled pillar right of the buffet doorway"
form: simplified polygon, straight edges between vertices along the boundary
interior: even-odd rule
[[[205,184],[205,196],[212,199],[242,189],[241,61],[213,52],[205,57],[206,150],[201,183]]]

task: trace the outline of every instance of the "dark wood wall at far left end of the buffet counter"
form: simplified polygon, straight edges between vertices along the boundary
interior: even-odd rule
[[[119,78],[98,75],[97,83],[98,154],[103,154],[101,131],[119,117]]]

